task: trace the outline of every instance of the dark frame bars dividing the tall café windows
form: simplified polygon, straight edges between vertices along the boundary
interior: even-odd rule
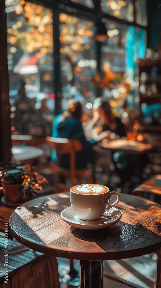
[[[100,0],[93,0],[95,7],[89,8],[84,5],[74,3],[71,0],[27,0],[30,3],[35,3],[37,5],[42,5],[44,7],[50,8],[53,10],[53,43],[54,43],[54,52],[53,52],[53,58],[55,60],[55,56],[59,54],[60,50],[60,41],[59,41],[59,14],[65,13],[71,16],[77,16],[79,18],[85,19],[85,20],[91,20],[95,21],[97,19],[101,18],[107,18],[111,21],[115,21],[121,24],[126,24],[127,26],[137,26],[136,22],[136,9],[135,9],[135,0],[133,0],[134,5],[134,21],[129,22],[124,19],[119,19],[117,17],[114,17],[110,14],[103,14],[103,16],[100,18],[99,13],[102,14],[101,6],[100,6]],[[62,4],[62,1],[66,2],[64,5]],[[148,1],[147,1],[148,6]],[[71,11],[69,11],[69,8]],[[77,11],[74,12],[72,10],[76,9]],[[149,21],[148,21],[149,22]],[[147,26],[143,27],[147,31],[149,31],[149,26],[147,23]],[[100,70],[100,50],[101,50],[101,43],[96,41],[96,61],[97,61],[97,69]],[[59,103],[61,102],[61,82],[60,82],[60,61],[55,61],[54,69],[53,69],[53,79],[54,79],[54,93],[55,93],[55,115],[61,113],[61,108]],[[100,88],[96,87],[96,92],[99,95]]]

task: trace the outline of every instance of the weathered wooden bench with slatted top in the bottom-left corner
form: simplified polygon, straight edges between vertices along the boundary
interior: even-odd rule
[[[3,256],[4,253],[1,253],[0,287],[60,288],[58,265],[55,256],[43,255],[39,252],[35,253],[34,250],[21,245],[19,242],[15,241],[15,239],[8,239],[8,241],[10,252],[12,251],[12,253],[9,254],[7,266],[9,281],[8,284],[4,282],[5,257]],[[0,248],[1,251],[4,250],[3,233],[0,234]]]

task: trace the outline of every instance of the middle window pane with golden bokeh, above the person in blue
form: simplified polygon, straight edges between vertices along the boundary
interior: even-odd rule
[[[66,100],[76,97],[86,104],[96,97],[91,81],[97,72],[95,40],[92,39],[94,24],[67,14],[60,14],[60,65],[62,83],[62,107]]]

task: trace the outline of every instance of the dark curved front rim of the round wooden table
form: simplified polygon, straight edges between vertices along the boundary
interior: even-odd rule
[[[10,219],[9,219],[9,226],[10,225]],[[122,251],[122,252],[111,252],[111,253],[106,253],[106,252],[99,252],[99,253],[81,253],[81,252],[69,252],[69,251],[62,251],[58,249],[53,249],[51,247],[45,247],[44,245],[40,245],[37,243],[34,243],[29,240],[25,240],[22,238],[19,234],[16,233],[16,231],[11,228],[11,233],[12,235],[18,240],[20,243],[25,245],[26,247],[33,249],[35,251],[45,253],[46,255],[50,256],[56,256],[56,257],[62,257],[62,258],[67,258],[67,259],[76,259],[76,260],[94,260],[94,261],[99,261],[99,260],[118,260],[118,259],[125,259],[125,258],[133,258],[133,257],[138,257],[142,256],[145,254],[150,254],[155,252],[161,251],[161,242],[147,246],[145,248],[141,249],[134,249],[134,250],[127,250],[127,251]],[[161,253],[161,252],[160,252]]]

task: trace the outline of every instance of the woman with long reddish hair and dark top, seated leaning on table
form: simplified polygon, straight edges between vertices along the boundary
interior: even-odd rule
[[[94,126],[98,121],[102,126],[102,132],[94,137],[95,141],[102,141],[103,139],[111,140],[111,133],[116,135],[116,139],[120,137],[127,138],[121,119],[114,116],[106,99],[102,97],[95,99],[93,103],[93,115],[93,119],[89,123],[87,129]],[[115,171],[121,179],[120,186],[129,181],[131,176],[136,176],[133,185],[131,184],[131,189],[132,186],[139,182],[141,170],[143,166],[147,164],[146,154],[140,156],[126,151],[120,151],[119,149],[117,149],[115,153],[112,153],[109,149],[98,146],[95,146],[94,149],[98,153],[97,162],[99,162],[102,167],[110,166],[112,163],[114,164]]]

